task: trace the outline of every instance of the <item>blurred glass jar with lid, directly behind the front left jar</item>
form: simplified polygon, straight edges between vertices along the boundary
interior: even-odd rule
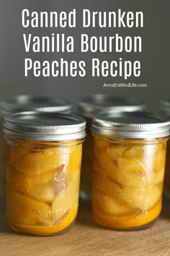
[[[63,99],[48,98],[43,96],[33,95],[15,95],[11,98],[6,98],[0,101],[0,197],[4,200],[5,195],[5,147],[4,140],[4,116],[8,116],[18,111],[36,110],[42,112],[62,112],[70,114],[73,110],[73,105]]]

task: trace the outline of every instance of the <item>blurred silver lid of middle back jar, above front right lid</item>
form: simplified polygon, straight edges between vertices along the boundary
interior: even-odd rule
[[[81,98],[78,103],[78,111],[86,117],[91,117],[97,111],[141,111],[145,108],[134,98],[116,97],[107,94],[93,94]]]

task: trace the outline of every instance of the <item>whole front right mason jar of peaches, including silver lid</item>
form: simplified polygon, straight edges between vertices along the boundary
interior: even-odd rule
[[[161,213],[169,119],[147,112],[94,116],[92,210],[109,229],[143,229]]]

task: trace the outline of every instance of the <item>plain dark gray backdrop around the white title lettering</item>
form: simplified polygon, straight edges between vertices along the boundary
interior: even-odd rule
[[[21,23],[22,9],[30,11],[71,11],[77,10],[77,27],[74,29],[23,29]],[[82,29],[80,26],[81,10],[93,11],[142,11],[144,13],[144,27],[140,29]],[[82,95],[90,93],[109,93],[126,97],[140,98],[148,106],[156,107],[157,101],[170,94],[169,92],[169,0],[115,0],[115,1],[0,1],[0,98],[7,95],[30,93],[35,95],[55,95],[60,98],[76,100]],[[73,35],[76,42],[74,54],[26,54],[24,52],[23,33],[32,35],[51,33],[66,33]],[[143,38],[143,52],[140,54],[80,54],[80,34],[89,35],[141,35]],[[86,77],[24,77],[24,58],[55,60],[64,59],[86,60]],[[138,78],[127,81],[113,77],[91,77],[91,58],[99,59],[139,59],[142,72]],[[147,83],[148,88],[103,88],[104,82],[136,82]]]

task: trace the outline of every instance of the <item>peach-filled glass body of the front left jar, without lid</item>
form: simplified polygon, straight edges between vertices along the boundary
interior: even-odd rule
[[[83,141],[41,142],[7,136],[6,213],[10,226],[27,234],[32,226],[32,234],[50,235],[71,225],[79,205]],[[49,227],[53,229],[48,232]]]

